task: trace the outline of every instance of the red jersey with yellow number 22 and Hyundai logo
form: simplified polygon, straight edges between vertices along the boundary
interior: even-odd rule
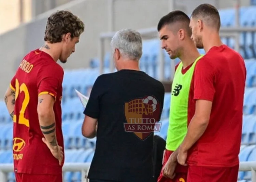
[[[50,55],[37,49],[24,57],[11,81],[10,87],[15,90],[13,158],[16,172],[51,175],[62,172],[62,166],[42,141],[37,105],[40,94],[55,97],[56,136],[58,145],[63,147],[60,106],[63,74],[61,66]]]

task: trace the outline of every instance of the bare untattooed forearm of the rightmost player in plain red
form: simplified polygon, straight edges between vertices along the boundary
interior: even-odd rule
[[[193,117],[191,120],[187,134],[182,142],[180,149],[182,151],[188,151],[202,136],[208,126],[208,121],[203,121]]]

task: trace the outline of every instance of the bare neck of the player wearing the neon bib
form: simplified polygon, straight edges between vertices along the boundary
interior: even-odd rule
[[[184,49],[183,53],[180,56],[183,68],[185,69],[186,67],[191,65],[199,56],[200,53],[194,45],[189,46],[187,50]]]

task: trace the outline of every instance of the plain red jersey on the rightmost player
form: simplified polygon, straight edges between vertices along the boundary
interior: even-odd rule
[[[212,101],[207,129],[188,151],[188,164],[230,167],[239,164],[246,68],[243,58],[226,45],[211,48],[198,60],[188,103],[188,124],[195,101]]]

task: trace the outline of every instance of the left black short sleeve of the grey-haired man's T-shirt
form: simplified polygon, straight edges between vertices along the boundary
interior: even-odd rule
[[[93,85],[93,88],[91,89],[91,93],[89,96],[88,103],[85,107],[84,114],[92,117],[94,119],[99,118],[100,114],[100,96],[102,93],[102,79],[101,77],[98,77]]]

